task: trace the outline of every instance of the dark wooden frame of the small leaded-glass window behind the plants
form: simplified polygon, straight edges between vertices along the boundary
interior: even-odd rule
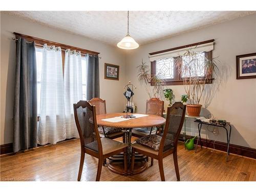
[[[174,51],[174,50],[178,50],[178,49],[194,47],[194,46],[197,46],[197,45],[202,45],[202,44],[206,44],[208,42],[213,42],[213,41],[214,41],[214,39],[211,39],[211,40],[207,40],[207,41],[197,42],[195,44],[180,46],[180,47],[177,47],[177,48],[166,49],[166,50],[157,51],[157,52],[153,52],[153,53],[149,53],[149,54],[150,55],[155,55],[155,54],[164,53],[164,52],[168,52],[168,51]],[[204,54],[205,54],[206,58],[212,59],[212,51],[204,52]],[[176,63],[179,62],[179,60],[177,60],[177,58],[178,57],[174,57],[174,60],[175,60],[174,62],[176,62]],[[183,78],[181,77],[181,74],[179,74],[178,68],[177,68],[176,65],[174,65],[174,78],[173,79],[165,79],[165,83],[166,83],[167,86],[175,86],[175,85],[183,85],[184,84]],[[181,66],[182,63],[178,63],[178,65]],[[156,60],[151,61],[151,75],[156,75]],[[205,74],[205,75],[209,75],[210,77],[212,77],[212,73],[211,74]],[[212,83],[212,80],[214,80],[214,79],[210,78],[209,80],[206,80],[206,84]],[[202,81],[204,81],[204,78],[202,78]],[[154,82],[150,82],[150,83],[151,83],[151,86],[154,86]]]

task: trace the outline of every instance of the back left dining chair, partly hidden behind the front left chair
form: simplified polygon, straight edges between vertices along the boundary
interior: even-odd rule
[[[96,115],[106,114],[106,101],[100,98],[93,98],[89,101],[92,105],[96,106]],[[113,127],[98,127],[100,137],[107,137],[110,139],[116,139],[122,137],[123,143],[125,142],[125,132],[122,132],[120,128]]]

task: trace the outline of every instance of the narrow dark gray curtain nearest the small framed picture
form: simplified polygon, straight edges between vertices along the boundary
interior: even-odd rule
[[[99,57],[87,56],[87,100],[99,97]]]

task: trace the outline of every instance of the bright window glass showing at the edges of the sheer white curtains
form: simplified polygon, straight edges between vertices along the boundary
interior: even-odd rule
[[[40,114],[42,48],[36,47],[36,77],[37,77],[37,116]],[[62,55],[63,57],[63,55]],[[86,57],[81,57],[82,65],[82,99],[86,100]]]

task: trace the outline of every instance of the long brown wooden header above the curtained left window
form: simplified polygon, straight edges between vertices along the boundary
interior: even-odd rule
[[[16,38],[18,38],[18,37],[26,38],[28,41],[35,41],[36,44],[39,44],[39,45],[42,45],[42,46],[44,44],[47,44],[49,46],[60,47],[63,50],[66,50],[66,49],[77,50],[77,51],[80,51],[82,54],[91,54],[91,55],[98,55],[99,54],[98,52],[95,52],[95,51],[90,51],[90,50],[87,50],[87,49],[81,49],[81,48],[74,47],[74,46],[60,44],[59,42],[54,42],[54,41],[50,41],[50,40],[46,40],[46,39],[41,39],[41,38],[38,38],[38,37],[32,37],[32,36],[29,36],[29,35],[20,34],[20,33],[16,33],[16,32],[14,32],[14,34],[15,34]]]

